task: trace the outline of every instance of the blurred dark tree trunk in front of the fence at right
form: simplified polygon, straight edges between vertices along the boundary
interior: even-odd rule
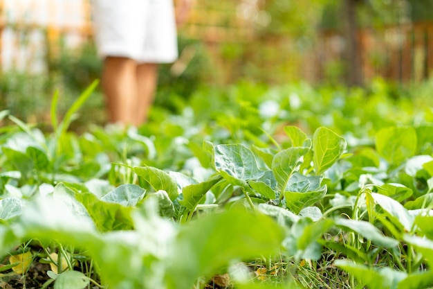
[[[344,21],[345,62],[347,85],[362,86],[362,60],[358,39],[358,21],[356,6],[359,0],[342,0],[342,17]]]

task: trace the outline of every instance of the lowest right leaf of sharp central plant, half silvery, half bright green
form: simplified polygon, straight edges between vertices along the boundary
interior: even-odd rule
[[[320,186],[323,177],[306,177],[295,173],[289,179],[284,191],[286,207],[294,213],[299,213],[304,207],[309,207],[321,200],[326,194],[326,185]]]

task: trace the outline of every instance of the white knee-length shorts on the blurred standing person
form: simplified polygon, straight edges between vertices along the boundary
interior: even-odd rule
[[[178,57],[173,0],[93,0],[93,22],[102,58],[168,63]]]

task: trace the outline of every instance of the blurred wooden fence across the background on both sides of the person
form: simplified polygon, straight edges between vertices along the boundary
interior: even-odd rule
[[[214,1],[196,0],[179,32],[206,44],[223,82],[243,77],[274,83],[343,80],[344,38],[337,31],[320,31],[313,42],[258,37],[248,15],[239,13],[250,1],[209,3]],[[91,40],[89,0],[0,0],[0,35],[1,69],[44,70],[46,47],[55,53],[61,35],[68,46]],[[432,76],[433,23],[364,28],[358,37],[365,80],[419,82]],[[233,48],[238,54],[230,58],[226,52]]]

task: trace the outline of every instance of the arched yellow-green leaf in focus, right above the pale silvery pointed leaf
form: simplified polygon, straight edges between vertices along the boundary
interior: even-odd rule
[[[158,168],[150,166],[140,166],[133,168],[133,171],[146,182],[148,182],[155,191],[166,191],[170,200],[175,200],[178,196],[177,184],[169,173]]]

